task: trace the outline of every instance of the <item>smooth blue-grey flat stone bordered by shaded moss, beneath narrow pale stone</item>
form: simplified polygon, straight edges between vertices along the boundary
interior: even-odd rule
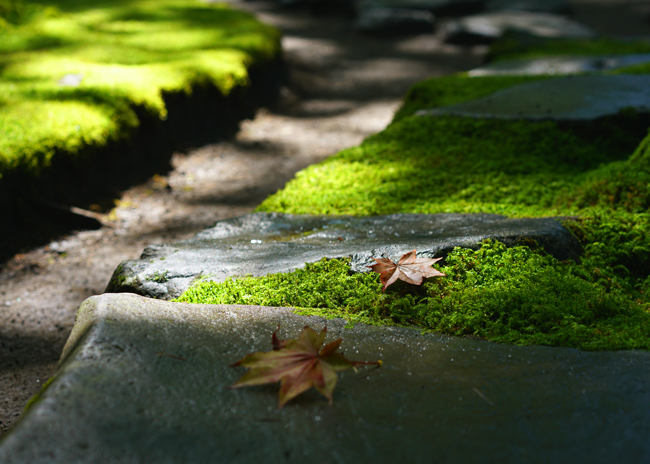
[[[416,112],[420,116],[592,121],[623,109],[650,113],[650,76],[569,76],[531,82],[487,97]]]

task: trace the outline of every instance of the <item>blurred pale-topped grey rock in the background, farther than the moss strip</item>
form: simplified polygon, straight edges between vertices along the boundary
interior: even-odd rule
[[[595,36],[586,26],[564,16],[526,11],[500,11],[456,19],[447,23],[443,35],[447,43],[472,45],[491,43],[508,31],[567,39]]]

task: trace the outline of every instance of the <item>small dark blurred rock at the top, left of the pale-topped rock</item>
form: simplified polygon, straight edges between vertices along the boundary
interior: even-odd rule
[[[356,27],[373,34],[423,34],[433,32],[434,19],[425,10],[367,7],[359,11]]]

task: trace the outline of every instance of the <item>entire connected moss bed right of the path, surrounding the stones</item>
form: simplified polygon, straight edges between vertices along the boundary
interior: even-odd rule
[[[544,77],[548,78],[548,77]],[[259,211],[564,216],[580,263],[532,247],[457,249],[422,287],[381,292],[342,261],[291,274],[200,282],[181,301],[294,306],[514,344],[650,349],[650,135],[627,112],[593,124],[419,117],[540,77],[465,75],[414,86],[394,121],[298,173]],[[393,257],[398,258],[398,257]]]

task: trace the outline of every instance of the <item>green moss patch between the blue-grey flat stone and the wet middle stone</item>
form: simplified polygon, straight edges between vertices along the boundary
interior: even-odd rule
[[[650,174],[638,169],[641,161],[622,161],[638,142],[635,133],[580,134],[551,121],[409,116],[299,172],[258,210],[548,216],[607,204],[638,211]]]

